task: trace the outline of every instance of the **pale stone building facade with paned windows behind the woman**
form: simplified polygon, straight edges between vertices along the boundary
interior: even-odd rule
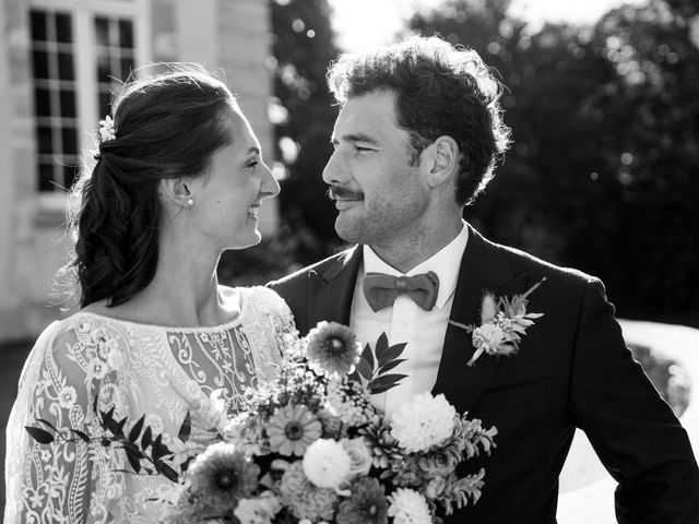
[[[0,343],[61,315],[66,191],[109,92],[152,62],[223,71],[269,159],[269,3],[260,0],[0,2]],[[116,79],[116,80],[114,80]],[[263,206],[263,233],[279,212]]]

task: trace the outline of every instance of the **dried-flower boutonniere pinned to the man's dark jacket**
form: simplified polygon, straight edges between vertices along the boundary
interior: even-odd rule
[[[522,336],[526,329],[534,324],[534,320],[544,313],[528,313],[528,297],[546,279],[542,278],[522,295],[496,297],[486,291],[481,303],[481,325],[462,324],[450,320],[449,323],[471,333],[473,347],[476,348],[467,366],[473,366],[481,355],[508,356],[514,355],[520,348]]]

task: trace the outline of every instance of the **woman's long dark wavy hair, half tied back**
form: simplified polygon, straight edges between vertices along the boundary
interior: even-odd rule
[[[237,109],[226,84],[201,67],[129,80],[112,100],[115,136],[71,190],[72,260],[63,274],[81,307],[123,303],[153,279],[164,178],[202,176],[233,141],[224,117]]]

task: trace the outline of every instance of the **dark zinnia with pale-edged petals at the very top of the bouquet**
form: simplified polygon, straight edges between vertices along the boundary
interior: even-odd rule
[[[352,330],[336,322],[319,322],[306,336],[306,356],[320,373],[351,373],[360,354],[362,345]]]

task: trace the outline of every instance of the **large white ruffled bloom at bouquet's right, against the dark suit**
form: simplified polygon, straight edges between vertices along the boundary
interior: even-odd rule
[[[408,452],[427,451],[451,437],[455,416],[443,394],[414,395],[393,414],[391,436]]]

